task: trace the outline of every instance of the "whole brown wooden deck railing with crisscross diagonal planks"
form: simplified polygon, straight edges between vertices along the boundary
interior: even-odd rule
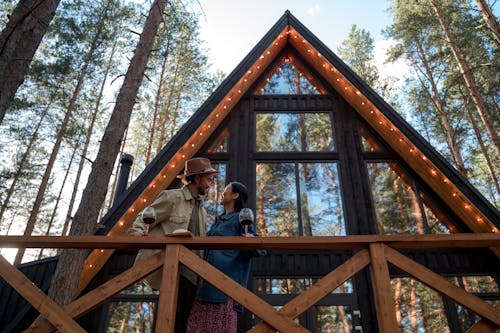
[[[307,332],[294,322],[301,313],[364,267],[370,267],[380,332],[399,332],[390,285],[388,263],[406,272],[482,319],[468,332],[495,332],[500,328],[500,309],[466,292],[440,275],[409,259],[397,249],[422,248],[499,248],[500,234],[397,235],[345,237],[57,237],[0,236],[0,247],[82,248],[82,249],[165,249],[128,269],[64,308],[51,301],[19,270],[0,257],[0,276],[30,302],[45,318],[33,332],[84,332],[75,319],[163,266],[158,302],[156,332],[172,332],[175,320],[179,263],[226,293],[262,323],[248,332]],[[268,250],[357,250],[346,262],[316,282],[279,311],[249,290],[201,260],[189,249],[268,249]]]

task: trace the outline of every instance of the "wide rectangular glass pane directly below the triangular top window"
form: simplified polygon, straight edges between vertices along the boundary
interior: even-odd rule
[[[257,113],[257,151],[333,151],[328,113]]]

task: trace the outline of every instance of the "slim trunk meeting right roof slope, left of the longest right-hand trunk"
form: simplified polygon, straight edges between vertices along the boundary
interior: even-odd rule
[[[448,114],[446,113],[445,110],[444,106],[445,103],[439,94],[436,81],[434,81],[432,70],[429,66],[429,62],[427,61],[427,55],[425,54],[424,49],[422,48],[422,45],[419,42],[417,42],[417,48],[420,55],[420,59],[422,60],[422,64],[424,65],[425,76],[427,77],[427,80],[432,88],[431,98],[434,103],[434,108],[441,117],[441,124],[443,124],[444,131],[446,134],[446,141],[448,142],[448,146],[450,147],[451,154],[453,155],[453,159],[455,160],[455,164],[457,165],[458,171],[460,171],[462,175],[467,177],[467,168],[465,167],[462,154],[460,153],[460,149],[457,144],[455,130],[451,126]]]

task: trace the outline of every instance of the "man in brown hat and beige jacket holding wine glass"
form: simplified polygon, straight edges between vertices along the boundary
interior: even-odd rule
[[[156,213],[153,224],[148,226],[142,221],[142,213],[134,221],[127,234],[132,236],[163,236],[176,230],[189,230],[194,236],[205,236],[207,212],[203,208],[203,200],[214,184],[217,174],[210,160],[196,157],[187,160],[184,174],[177,176],[184,186],[180,189],[165,190],[150,205]],[[141,250],[136,262],[158,252],[158,250]],[[198,255],[202,256],[201,253]],[[161,270],[147,276],[145,282],[153,289],[160,289]],[[180,265],[179,297],[175,332],[186,331],[186,321],[196,294],[197,276],[185,266]]]

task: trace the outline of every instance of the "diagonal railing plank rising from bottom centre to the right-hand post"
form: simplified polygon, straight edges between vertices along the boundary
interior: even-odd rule
[[[354,276],[370,263],[367,250],[361,250],[352,258],[317,281],[311,288],[285,304],[278,312],[292,319],[297,318],[311,306],[319,302],[345,281]],[[273,328],[265,323],[259,323],[247,333],[274,332]]]

